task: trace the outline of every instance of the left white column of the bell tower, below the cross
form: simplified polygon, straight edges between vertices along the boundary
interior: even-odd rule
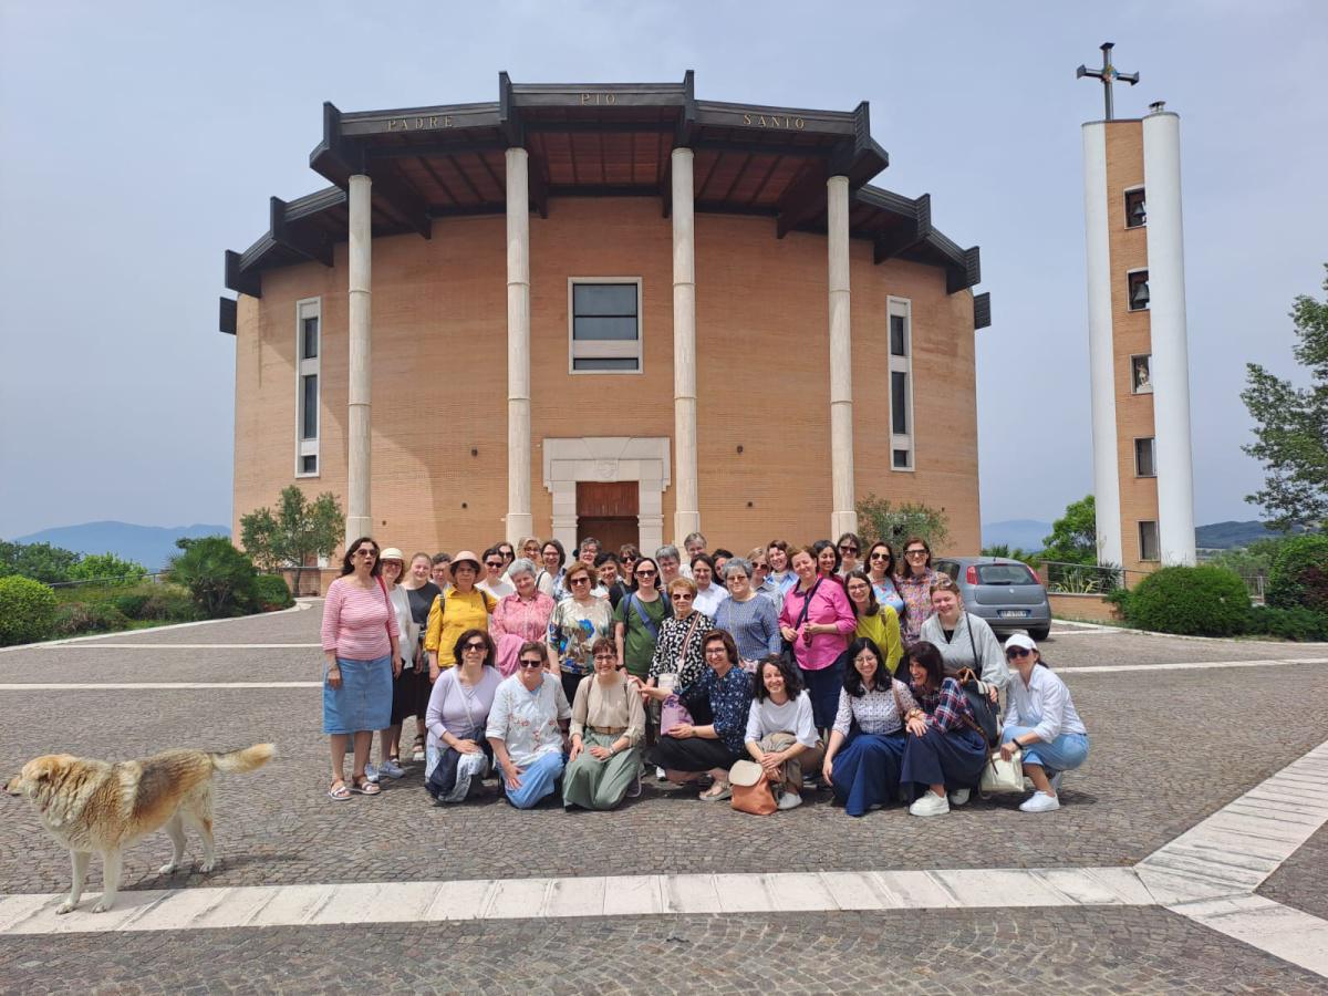
[[[1116,356],[1112,341],[1112,250],[1108,224],[1106,126],[1094,121],[1084,125],[1093,495],[1097,506],[1098,563],[1120,564],[1125,558],[1121,547],[1121,471],[1116,438]],[[1123,274],[1121,279],[1125,279]]]

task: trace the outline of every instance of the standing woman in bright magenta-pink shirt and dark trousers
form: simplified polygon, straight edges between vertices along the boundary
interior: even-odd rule
[[[815,551],[803,547],[793,555],[798,583],[784,596],[780,632],[793,644],[793,656],[802,669],[802,681],[811,697],[817,729],[834,724],[843,683],[839,656],[858,629],[849,595],[838,579],[818,578]]]

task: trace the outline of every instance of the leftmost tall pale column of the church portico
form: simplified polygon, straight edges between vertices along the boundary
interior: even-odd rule
[[[351,367],[347,373],[349,412],[347,413],[347,515],[345,542],[369,535],[373,513],[369,507],[369,385],[372,364],[369,341],[371,270],[373,256],[373,230],[371,226],[371,189],[373,181],[363,174],[351,177],[349,271],[348,286],[351,311]]]

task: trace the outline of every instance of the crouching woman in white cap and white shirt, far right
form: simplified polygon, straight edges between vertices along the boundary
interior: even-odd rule
[[[1031,636],[1005,640],[1005,659],[1015,669],[1008,687],[1001,757],[1024,752],[1024,774],[1036,791],[1020,805],[1024,813],[1050,813],[1061,807],[1056,790],[1061,773],[1088,758],[1088,729],[1070,701],[1070,691],[1046,667]]]

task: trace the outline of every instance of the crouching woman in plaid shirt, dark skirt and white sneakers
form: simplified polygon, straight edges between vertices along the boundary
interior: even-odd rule
[[[987,764],[987,741],[976,729],[964,689],[955,679],[946,677],[940,651],[934,644],[922,640],[908,648],[908,673],[920,708],[911,709],[904,722],[908,740],[899,782],[930,789],[908,807],[912,815],[939,817],[950,811],[947,786],[955,790],[951,798],[956,806],[968,802],[968,793]]]

